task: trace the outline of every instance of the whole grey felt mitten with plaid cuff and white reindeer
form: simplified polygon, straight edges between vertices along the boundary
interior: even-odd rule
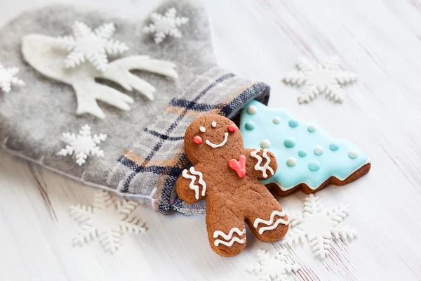
[[[29,11],[8,23],[0,31],[0,62],[19,67],[26,86],[0,94],[4,150],[163,214],[203,214],[204,202],[188,205],[175,193],[176,179],[190,165],[185,129],[208,112],[234,118],[249,100],[267,103],[269,87],[216,65],[199,1],[170,1],[157,12],[172,7],[189,21],[179,27],[181,38],[159,44],[152,34],[136,33],[139,22],[73,6]],[[74,22],[86,24],[79,33],[112,37],[106,69],[103,55],[78,56],[74,39],[66,37]],[[109,22],[114,29],[103,26]],[[74,57],[65,61],[72,50]],[[88,157],[66,146],[81,138],[95,143]]]

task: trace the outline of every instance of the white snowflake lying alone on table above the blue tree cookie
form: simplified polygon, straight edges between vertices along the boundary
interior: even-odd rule
[[[321,93],[326,93],[335,102],[342,102],[345,92],[341,86],[352,84],[357,78],[356,74],[340,69],[338,57],[329,58],[323,65],[316,65],[307,58],[299,58],[297,68],[298,71],[283,77],[283,82],[303,86],[301,95],[298,96],[299,103],[309,103]]]

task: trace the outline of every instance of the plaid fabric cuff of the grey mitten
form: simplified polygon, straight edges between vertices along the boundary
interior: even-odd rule
[[[204,214],[204,202],[185,204],[175,193],[175,181],[191,166],[184,152],[185,130],[196,117],[209,112],[234,118],[253,99],[267,104],[269,86],[250,83],[219,68],[202,74],[171,100],[119,158],[109,185],[163,214]]]

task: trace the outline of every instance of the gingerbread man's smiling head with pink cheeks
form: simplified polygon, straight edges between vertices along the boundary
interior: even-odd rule
[[[243,150],[243,137],[230,119],[220,115],[196,118],[186,130],[185,148],[193,164],[209,157],[229,158]]]

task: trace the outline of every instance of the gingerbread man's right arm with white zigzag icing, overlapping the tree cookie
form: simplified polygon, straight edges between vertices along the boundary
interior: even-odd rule
[[[267,149],[246,149],[247,164],[253,165],[254,171],[260,180],[272,178],[278,169],[275,155]]]

